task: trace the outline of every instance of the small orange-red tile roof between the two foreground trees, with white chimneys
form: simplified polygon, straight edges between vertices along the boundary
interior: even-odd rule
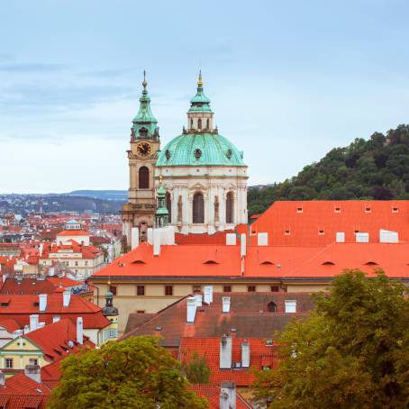
[[[232,362],[241,362],[241,343],[250,344],[250,368],[220,368],[220,338],[182,338],[178,359],[189,362],[196,353],[204,358],[210,369],[210,382],[220,385],[232,381],[236,386],[250,386],[255,379],[255,369],[263,366],[277,368],[277,347],[267,346],[265,339],[232,338]]]

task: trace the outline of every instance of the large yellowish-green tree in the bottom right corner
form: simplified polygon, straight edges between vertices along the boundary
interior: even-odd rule
[[[255,395],[271,409],[409,407],[409,300],[381,271],[336,277],[314,314],[278,337],[277,370],[260,371]]]

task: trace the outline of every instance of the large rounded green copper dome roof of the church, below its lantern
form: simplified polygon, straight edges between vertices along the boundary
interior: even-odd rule
[[[200,150],[200,157],[195,153]],[[230,157],[230,158],[229,158]],[[246,166],[242,153],[217,133],[184,133],[160,151],[156,166]]]

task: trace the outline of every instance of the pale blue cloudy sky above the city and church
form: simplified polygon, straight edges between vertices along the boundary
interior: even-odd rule
[[[250,185],[409,123],[407,0],[13,0],[0,10],[0,193],[127,189],[147,70],[162,148],[198,70]]]

